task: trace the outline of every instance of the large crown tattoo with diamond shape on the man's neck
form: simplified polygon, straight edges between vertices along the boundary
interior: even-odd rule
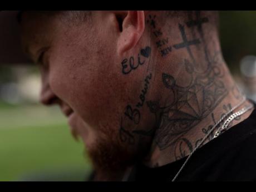
[[[155,138],[160,150],[174,145],[180,136],[198,125],[228,93],[214,71],[209,70],[204,76],[194,76],[193,65],[187,60],[184,63],[187,65],[186,71],[191,73],[188,86],[177,85],[173,76],[163,73],[164,86],[173,95],[173,102],[169,106],[159,107],[156,112],[161,114],[161,124]],[[151,111],[154,111],[152,106]]]

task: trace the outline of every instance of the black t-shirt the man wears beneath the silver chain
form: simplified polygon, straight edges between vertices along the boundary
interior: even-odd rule
[[[136,165],[128,180],[171,181],[186,157],[158,168]],[[256,181],[256,110],[195,151],[176,181]]]

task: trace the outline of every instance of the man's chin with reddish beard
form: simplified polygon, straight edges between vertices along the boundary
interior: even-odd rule
[[[106,126],[99,129],[93,129],[92,127],[85,129],[83,127],[81,129],[79,134],[85,144],[85,152],[97,171],[104,173],[125,171],[126,168],[143,159],[147,152],[143,150],[145,146],[129,145],[126,142],[121,142],[119,129],[114,129],[114,127]]]

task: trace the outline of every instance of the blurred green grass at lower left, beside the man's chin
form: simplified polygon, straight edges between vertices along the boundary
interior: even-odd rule
[[[57,109],[0,109],[0,181],[85,180],[91,170]]]

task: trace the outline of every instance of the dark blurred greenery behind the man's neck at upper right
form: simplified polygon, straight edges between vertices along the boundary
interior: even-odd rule
[[[225,61],[239,73],[244,56],[256,55],[256,11],[219,11],[220,42]]]

